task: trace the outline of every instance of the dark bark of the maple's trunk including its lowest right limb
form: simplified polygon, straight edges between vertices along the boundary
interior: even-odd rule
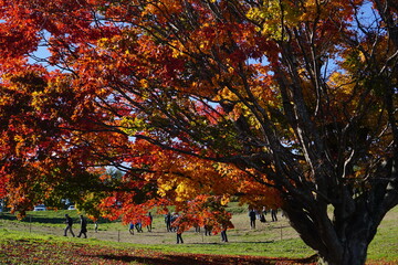
[[[395,172],[391,163],[381,166],[374,176],[371,190],[354,195],[346,190],[339,203],[333,205],[333,220],[329,218],[332,209],[327,210],[318,198],[314,201],[286,200],[283,210],[291,225],[308,246],[317,251],[320,264],[365,264],[368,245],[378,225],[398,200],[397,192],[389,191],[391,182],[381,178],[392,179]]]

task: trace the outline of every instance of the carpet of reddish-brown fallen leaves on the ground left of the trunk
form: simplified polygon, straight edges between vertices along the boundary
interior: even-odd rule
[[[50,241],[9,241],[1,244],[1,264],[150,264],[150,265],[208,265],[208,264],[311,264],[308,259],[270,258],[261,256],[203,255],[161,253],[149,250],[115,248],[81,243]]]

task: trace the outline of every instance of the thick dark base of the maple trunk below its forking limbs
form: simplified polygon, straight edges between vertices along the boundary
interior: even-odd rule
[[[301,239],[317,251],[320,264],[365,264],[368,245],[376,234],[378,220],[381,219],[374,219],[373,214],[357,205],[349,218],[343,215],[338,220],[343,218],[344,221],[338,222],[332,221],[327,210],[322,209],[317,206],[310,212],[295,203],[294,206],[284,208],[284,211]]]

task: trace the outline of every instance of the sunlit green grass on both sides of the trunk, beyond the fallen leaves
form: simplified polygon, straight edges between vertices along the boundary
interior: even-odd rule
[[[233,205],[231,212],[233,212],[233,223],[235,224],[235,229],[228,232],[230,243],[220,243],[219,235],[203,237],[193,232],[186,232],[184,233],[184,239],[186,242],[190,243],[180,245],[175,244],[174,234],[160,232],[164,230],[163,215],[154,215],[154,226],[157,231],[156,236],[159,237],[158,242],[160,244],[155,244],[153,242],[150,244],[132,244],[128,242],[115,242],[115,240],[111,241],[111,239],[81,240],[60,236],[62,234],[62,227],[64,226],[64,214],[69,213],[77,221],[77,211],[29,212],[28,216],[22,221],[17,221],[9,213],[0,213],[0,244],[7,245],[7,242],[24,240],[29,242],[55,242],[59,244],[87,244],[91,246],[114,247],[121,250],[134,247],[163,253],[254,255],[291,258],[307,257],[315,253],[297,237],[297,234],[291,227],[289,227],[286,220],[266,223],[266,225],[259,224],[256,230],[249,230],[247,209]],[[398,208],[395,208],[386,215],[379,226],[378,233],[369,245],[368,259],[398,264],[397,220]],[[25,232],[15,231],[17,226],[20,224],[33,226],[32,231],[39,227],[44,230],[45,227],[53,227],[53,230],[59,231],[57,234],[60,235],[29,233],[27,227]],[[124,239],[128,239],[126,226],[122,225],[119,222],[103,222],[101,223],[100,229],[100,233],[102,233],[102,231],[104,231],[104,233],[105,231],[114,234],[122,233],[123,236],[125,236]],[[88,236],[93,235],[92,231],[90,233]],[[155,233],[151,235],[155,237]],[[136,234],[129,239],[145,240],[145,236],[149,236],[149,233],[140,235]]]

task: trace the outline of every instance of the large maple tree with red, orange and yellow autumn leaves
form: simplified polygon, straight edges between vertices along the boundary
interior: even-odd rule
[[[325,263],[364,264],[398,203],[397,15],[392,0],[1,0],[0,195],[126,219],[211,216],[234,195],[282,206]]]

